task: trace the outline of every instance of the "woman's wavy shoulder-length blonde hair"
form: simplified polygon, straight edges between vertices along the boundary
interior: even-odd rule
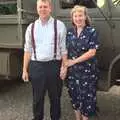
[[[86,16],[85,24],[87,26],[91,25],[91,19],[88,15],[87,8],[85,6],[75,5],[71,10],[71,18],[73,17],[73,13],[75,13],[75,12],[84,12],[84,14]],[[73,23],[73,20],[72,20],[72,23]],[[73,25],[74,25],[74,23],[73,23]]]

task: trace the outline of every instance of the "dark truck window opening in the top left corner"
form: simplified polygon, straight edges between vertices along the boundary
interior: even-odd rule
[[[0,1],[0,15],[17,14],[16,0],[1,0]]]

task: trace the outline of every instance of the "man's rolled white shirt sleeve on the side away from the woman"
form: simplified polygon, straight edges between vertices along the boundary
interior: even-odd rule
[[[24,51],[30,52],[30,53],[32,52],[31,27],[32,27],[32,24],[30,24],[26,29],[25,44],[24,44]]]

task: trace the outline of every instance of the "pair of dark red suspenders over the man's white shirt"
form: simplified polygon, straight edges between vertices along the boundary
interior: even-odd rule
[[[35,46],[35,39],[34,39],[34,24],[32,24],[31,28],[31,37],[32,37],[32,47],[33,47],[33,52],[34,52],[34,58],[36,58],[36,46]],[[54,20],[54,59],[56,59],[56,54],[57,54],[57,20]]]

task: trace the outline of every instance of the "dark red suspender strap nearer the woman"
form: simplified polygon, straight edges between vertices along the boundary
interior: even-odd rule
[[[57,55],[57,20],[54,19],[54,59]]]

